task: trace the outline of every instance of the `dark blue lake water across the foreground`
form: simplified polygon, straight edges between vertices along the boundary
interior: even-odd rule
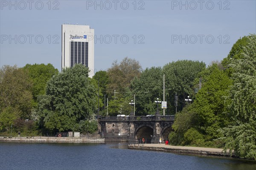
[[[126,144],[1,142],[0,170],[256,170],[256,161],[130,150]]]

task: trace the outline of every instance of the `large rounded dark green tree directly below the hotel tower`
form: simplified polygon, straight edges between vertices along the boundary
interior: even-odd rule
[[[41,125],[52,131],[76,130],[80,120],[93,114],[96,94],[87,67],[65,68],[49,80],[46,95],[39,97]]]

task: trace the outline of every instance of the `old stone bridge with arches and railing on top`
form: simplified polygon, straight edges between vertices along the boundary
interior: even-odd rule
[[[167,140],[172,131],[174,116],[127,116],[99,117],[101,137],[105,139],[145,139],[158,143],[159,138]]]

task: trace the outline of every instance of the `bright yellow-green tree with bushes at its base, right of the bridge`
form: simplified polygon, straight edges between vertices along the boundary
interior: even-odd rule
[[[220,146],[220,142],[213,140],[221,137],[219,129],[229,123],[226,106],[230,103],[227,96],[232,80],[219,67],[221,65],[213,63],[199,74],[204,79],[201,90],[195,95],[194,102],[175,116],[173,129],[179,136],[178,144],[217,146],[216,144],[219,143]],[[197,131],[196,134],[200,133],[200,136],[204,136],[204,139],[195,137],[193,141],[191,136],[190,139],[186,138],[191,128]],[[173,134],[172,137],[177,135]]]

